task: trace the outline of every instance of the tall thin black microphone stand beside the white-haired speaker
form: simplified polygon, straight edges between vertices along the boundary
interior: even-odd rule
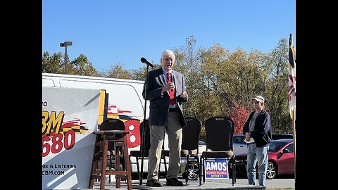
[[[142,140],[141,140],[141,172],[139,173],[139,186],[133,186],[134,189],[152,189],[149,186],[143,186],[142,185],[142,179],[143,179],[143,163],[144,163],[144,141],[146,141],[146,91],[148,90],[148,70],[149,70],[149,65],[146,65],[146,81],[144,83],[144,87],[146,88],[144,90],[144,119],[143,119],[143,131],[142,131]],[[141,127],[141,126],[140,126]]]

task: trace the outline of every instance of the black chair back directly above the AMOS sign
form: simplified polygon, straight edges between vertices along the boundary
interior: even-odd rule
[[[206,127],[206,148],[211,151],[233,151],[232,138],[234,122],[231,118],[217,116],[208,118]]]

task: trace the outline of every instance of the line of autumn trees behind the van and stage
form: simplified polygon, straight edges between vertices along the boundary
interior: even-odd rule
[[[233,52],[215,43],[208,48],[196,46],[194,35],[186,38],[186,45],[174,49],[174,69],[186,79],[189,101],[183,104],[184,114],[199,118],[202,123],[213,116],[228,116],[235,122],[235,133],[241,133],[244,122],[252,111],[251,98],[265,97],[265,109],[271,115],[273,132],[292,133],[287,89],[287,39],[281,39],[273,51],[262,53],[242,48]],[[42,56],[42,72],[64,73],[62,53]],[[154,63],[153,63],[154,64]],[[154,64],[154,70],[161,64]],[[126,70],[122,63],[97,72],[84,55],[68,64],[68,74],[141,80],[146,78],[146,65]],[[202,127],[201,139],[204,139]]]

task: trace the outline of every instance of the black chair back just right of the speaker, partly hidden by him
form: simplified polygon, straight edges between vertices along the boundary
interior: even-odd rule
[[[199,135],[202,123],[197,118],[185,118],[187,125],[182,129],[182,150],[199,150]]]

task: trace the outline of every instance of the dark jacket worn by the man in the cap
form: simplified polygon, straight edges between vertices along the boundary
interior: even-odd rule
[[[249,119],[246,120],[243,127],[243,134],[249,132],[249,123],[255,111],[251,112],[249,115]],[[270,115],[265,110],[262,110],[261,113],[257,116],[255,126],[253,127],[253,132],[251,133],[251,137],[255,140],[256,146],[261,147],[265,144],[270,144],[272,137],[271,130],[271,121]]]

